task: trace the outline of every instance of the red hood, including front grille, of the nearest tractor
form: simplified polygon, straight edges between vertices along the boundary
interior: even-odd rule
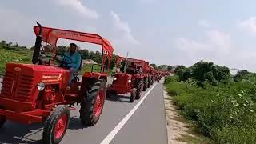
[[[60,67],[7,63],[0,97],[34,102],[38,96],[39,82],[58,84],[62,89],[69,78],[69,70]]]

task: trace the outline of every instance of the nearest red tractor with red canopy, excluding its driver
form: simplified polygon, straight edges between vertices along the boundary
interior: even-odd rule
[[[107,74],[104,72],[106,59],[112,57],[110,42],[98,34],[34,26],[36,42],[33,64],[7,63],[6,74],[0,94],[0,128],[6,120],[31,124],[44,122],[42,139],[44,143],[59,143],[70,122],[70,110],[80,103],[80,120],[85,126],[98,122],[106,98]],[[90,42],[102,46],[102,71],[86,72],[82,81],[73,79],[69,88],[70,70],[58,66],[54,61],[56,43],[59,38]],[[50,44],[52,52],[46,62],[41,62],[42,42]],[[70,61],[72,59],[70,58]],[[110,62],[110,61],[109,61]],[[43,63],[43,65],[42,65]],[[66,64],[63,61],[62,64]],[[68,62],[70,63],[70,62]]]

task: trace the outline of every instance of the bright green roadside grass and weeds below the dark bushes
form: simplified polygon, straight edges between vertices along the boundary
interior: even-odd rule
[[[166,90],[195,133],[212,143],[256,143],[256,78],[204,88],[193,81],[166,78]],[[200,143],[185,136],[183,140]],[[202,137],[202,139],[204,139]]]

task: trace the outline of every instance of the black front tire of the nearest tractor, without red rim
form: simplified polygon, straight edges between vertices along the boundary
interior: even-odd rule
[[[66,114],[66,127],[62,135],[59,138],[56,138],[54,134],[54,128],[58,123],[59,118],[61,118],[64,114]],[[58,144],[59,142],[61,142],[69,124],[70,124],[70,109],[67,106],[63,106],[63,105],[57,106],[54,112],[50,114],[50,116],[46,119],[46,122],[43,128],[43,133],[42,133],[43,142],[46,144]]]

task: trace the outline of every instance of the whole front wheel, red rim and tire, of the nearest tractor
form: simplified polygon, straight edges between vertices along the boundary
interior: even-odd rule
[[[47,144],[61,142],[70,123],[70,109],[67,106],[57,106],[46,119],[42,139]]]

